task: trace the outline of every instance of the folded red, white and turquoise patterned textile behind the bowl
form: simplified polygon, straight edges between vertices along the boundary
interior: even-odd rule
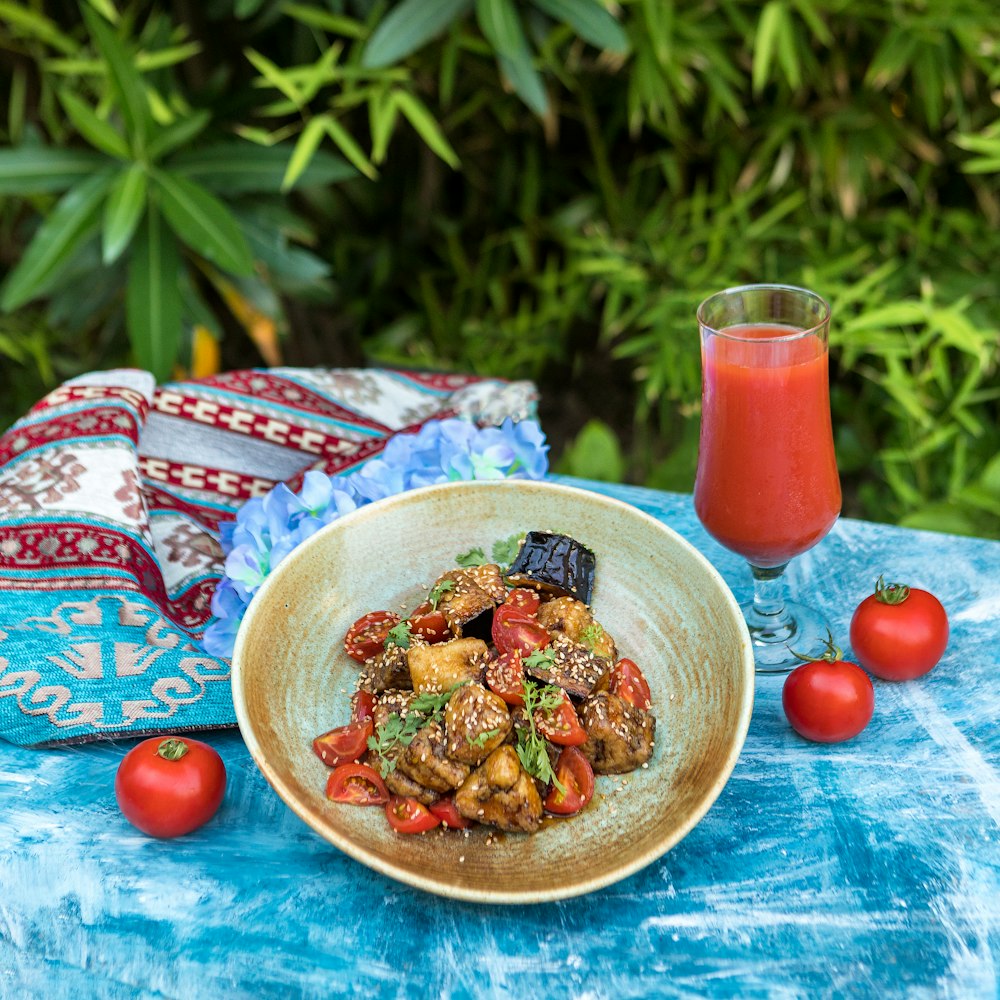
[[[385,369],[147,372],[61,386],[0,437],[0,737],[26,746],[235,723],[198,641],[219,523],[393,434],[534,415],[527,382]]]

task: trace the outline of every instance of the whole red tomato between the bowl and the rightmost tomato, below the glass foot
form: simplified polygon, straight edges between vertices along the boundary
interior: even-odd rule
[[[785,678],[781,704],[792,728],[816,743],[841,743],[871,721],[875,691],[856,664],[828,644],[826,654],[796,667]]]

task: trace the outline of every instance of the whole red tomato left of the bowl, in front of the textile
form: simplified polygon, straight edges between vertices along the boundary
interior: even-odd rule
[[[226,767],[207,743],[180,736],[143,740],[122,758],[115,798],[151,837],[179,837],[207,823],[226,791]]]

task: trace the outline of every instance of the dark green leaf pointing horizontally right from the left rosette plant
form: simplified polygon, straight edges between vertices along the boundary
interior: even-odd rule
[[[288,143],[258,146],[252,142],[223,142],[180,153],[170,161],[170,168],[209,191],[229,195],[277,193],[291,154]],[[299,177],[298,187],[336,184],[357,176],[358,172],[341,157],[319,150]]]

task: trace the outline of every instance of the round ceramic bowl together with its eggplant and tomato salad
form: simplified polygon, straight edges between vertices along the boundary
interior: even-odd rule
[[[505,480],[403,493],[299,546],[247,611],[232,688],[257,766],[331,844],[429,892],[532,903],[694,827],[754,667],[735,599],[673,530]]]

